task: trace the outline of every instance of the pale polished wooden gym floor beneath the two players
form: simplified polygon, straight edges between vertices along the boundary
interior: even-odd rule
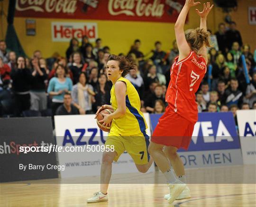
[[[173,205],[163,198],[168,188],[160,172],[114,174],[109,201],[94,204],[86,199],[100,188],[93,184],[99,180],[96,176],[1,183],[0,207],[256,207],[255,171],[256,165],[186,169],[191,198]],[[125,184],[117,184],[124,178],[128,178]]]

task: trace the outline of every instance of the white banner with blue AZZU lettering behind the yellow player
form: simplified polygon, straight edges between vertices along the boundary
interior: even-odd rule
[[[144,114],[150,133],[149,114]],[[60,165],[65,165],[61,177],[97,176],[101,173],[101,160],[108,132],[99,129],[95,115],[55,116],[57,146],[64,147],[58,152]],[[148,172],[154,171],[154,164]],[[112,164],[112,173],[135,173],[137,168],[128,153],[123,153]]]

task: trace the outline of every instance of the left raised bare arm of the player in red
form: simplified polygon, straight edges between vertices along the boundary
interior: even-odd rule
[[[175,23],[174,30],[175,30],[177,46],[179,49],[179,60],[182,60],[185,57],[187,57],[191,50],[185,38],[184,25],[185,25],[185,20],[189,12],[189,9],[198,4],[200,4],[200,2],[194,2],[194,0],[186,0],[185,5],[181,10],[181,13]]]

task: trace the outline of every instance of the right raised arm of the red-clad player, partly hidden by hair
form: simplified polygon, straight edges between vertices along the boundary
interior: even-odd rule
[[[212,9],[213,5],[210,6],[210,2],[207,2],[207,4],[203,4],[203,10],[199,11],[198,9],[196,9],[197,14],[201,17],[200,18],[200,29],[204,29],[205,31],[207,31],[207,26],[206,26],[206,22],[207,22],[207,16],[210,13],[210,10]],[[208,43],[209,44],[209,43]],[[201,54],[206,63],[208,61],[207,59],[207,49],[206,49],[206,45],[204,44],[202,46],[202,48],[200,49],[200,51],[198,52],[199,54]]]

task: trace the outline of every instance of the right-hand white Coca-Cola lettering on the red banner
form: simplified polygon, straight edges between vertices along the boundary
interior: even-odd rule
[[[109,13],[113,16],[125,14],[127,16],[162,17],[165,5],[160,0],[149,3],[148,0],[110,0]]]

